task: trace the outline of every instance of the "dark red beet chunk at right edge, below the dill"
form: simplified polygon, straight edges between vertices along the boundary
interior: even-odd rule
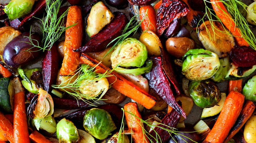
[[[256,65],[256,51],[246,46],[234,46],[230,52],[232,62],[238,67]]]

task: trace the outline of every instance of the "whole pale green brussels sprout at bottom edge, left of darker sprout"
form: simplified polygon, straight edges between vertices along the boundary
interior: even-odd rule
[[[74,123],[65,118],[57,123],[56,133],[59,143],[76,143],[79,141],[79,134]]]

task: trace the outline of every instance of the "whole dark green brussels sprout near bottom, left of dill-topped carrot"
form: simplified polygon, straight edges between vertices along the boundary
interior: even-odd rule
[[[97,139],[105,139],[117,128],[110,114],[98,108],[86,112],[83,126],[86,132]]]

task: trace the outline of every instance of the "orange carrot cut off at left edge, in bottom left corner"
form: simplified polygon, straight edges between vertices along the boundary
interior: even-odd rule
[[[13,125],[10,120],[5,117],[3,113],[0,112],[0,132],[11,142],[13,140]]]

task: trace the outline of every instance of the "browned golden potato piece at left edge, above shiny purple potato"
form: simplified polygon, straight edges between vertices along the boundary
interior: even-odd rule
[[[11,26],[5,26],[0,28],[0,55],[3,55],[5,46],[16,36],[20,35],[19,30],[15,30]]]

